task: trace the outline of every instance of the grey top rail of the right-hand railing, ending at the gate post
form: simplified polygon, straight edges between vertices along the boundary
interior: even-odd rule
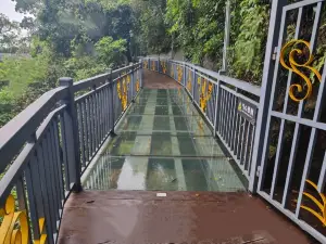
[[[155,57],[155,60],[158,60],[158,59]],[[165,60],[165,59],[161,59],[161,60]],[[221,75],[217,72],[213,72],[213,70],[210,70],[210,69],[206,69],[206,68],[203,68],[203,67],[200,67],[198,65],[187,63],[187,62],[184,62],[184,61],[175,61],[175,60],[168,60],[168,61],[172,62],[172,63],[186,65],[186,66],[188,66],[190,68],[193,68],[193,69],[196,69],[200,73],[203,73],[203,74],[205,74],[205,75],[208,75],[212,78],[215,78],[216,80],[221,80],[223,82],[226,82],[228,85],[237,87],[237,88],[239,88],[243,91],[247,91],[251,94],[254,94],[256,97],[261,95],[261,88],[258,87],[258,86],[254,86],[252,84],[246,82],[246,81],[240,80],[240,79],[231,78],[231,77],[228,77],[228,76],[225,76],[225,75]],[[215,82],[214,80],[212,80],[212,81]]]

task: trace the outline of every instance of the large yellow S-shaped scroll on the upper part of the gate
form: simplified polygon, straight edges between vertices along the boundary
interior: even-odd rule
[[[309,59],[305,63],[302,63],[302,64],[299,64],[297,63],[297,61],[294,60],[294,56],[297,55],[302,55],[303,54],[303,51],[304,51],[304,48],[301,50],[301,49],[298,49],[296,48],[294,46],[297,44],[303,44],[308,49],[309,49]],[[284,56],[287,52],[287,50],[291,48],[290,52],[289,52],[289,63],[290,63],[290,66],[288,66],[284,60]],[[304,40],[291,40],[289,41],[288,43],[286,43],[281,50],[280,50],[280,64],[281,66],[284,66],[285,68],[296,73],[298,76],[300,76],[305,85],[302,86],[300,84],[293,84],[290,86],[290,89],[289,89],[289,95],[291,98],[291,100],[296,101],[296,102],[300,102],[302,100],[305,100],[305,99],[309,99],[312,94],[312,82],[310,80],[310,78],[301,70],[299,70],[299,67],[301,68],[305,68],[305,69],[309,69],[310,72],[312,72],[316,77],[317,79],[319,80],[319,82],[322,81],[322,76],[319,74],[319,72],[317,69],[315,69],[314,67],[310,66],[310,64],[313,62],[313,55],[312,55],[312,51],[310,50],[310,43],[308,41],[304,41]],[[305,94],[303,98],[299,99],[297,98],[294,94],[293,94],[293,91],[294,91],[294,88],[297,89],[297,91],[299,93],[302,93],[303,92],[303,88],[306,86],[306,91],[305,91]]]

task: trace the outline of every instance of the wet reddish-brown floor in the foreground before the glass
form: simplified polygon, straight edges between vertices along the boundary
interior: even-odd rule
[[[304,233],[248,193],[84,191],[65,205],[59,244],[306,244]]]

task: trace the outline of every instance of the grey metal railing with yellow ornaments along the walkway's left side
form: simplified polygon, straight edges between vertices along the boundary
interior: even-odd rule
[[[0,129],[0,243],[57,242],[67,196],[80,191],[82,174],[141,82],[141,63],[78,82],[61,78]]]

